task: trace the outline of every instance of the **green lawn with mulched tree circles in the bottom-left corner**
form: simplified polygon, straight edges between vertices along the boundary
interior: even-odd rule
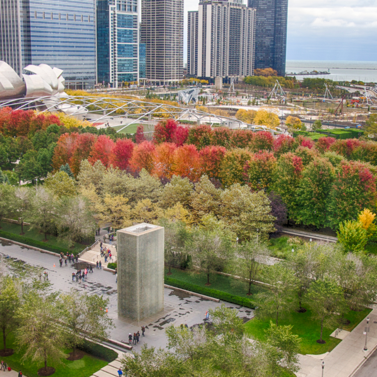
[[[7,348],[15,348],[13,333],[8,335],[6,346]],[[0,339],[0,347],[3,348],[3,337]],[[63,352],[69,354],[69,352],[72,352],[72,349],[64,349]],[[12,356],[3,357],[2,359],[13,370],[17,372],[22,370],[22,374],[25,376],[39,377],[38,369],[42,368],[44,363],[32,362],[29,359],[26,359],[25,362],[21,363],[20,359],[22,356],[22,352],[14,352]],[[55,373],[52,374],[53,377],[89,377],[107,364],[106,361],[87,354],[80,360],[70,361],[64,359],[62,360],[62,364],[47,363],[48,366],[55,368]]]

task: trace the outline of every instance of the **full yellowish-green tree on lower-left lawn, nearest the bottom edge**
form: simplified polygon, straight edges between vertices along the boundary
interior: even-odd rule
[[[20,326],[16,332],[18,350],[23,352],[21,362],[30,359],[44,362],[44,374],[49,373],[48,361],[61,363],[66,355],[62,351],[66,337],[64,326],[58,326],[60,320],[55,303],[56,294],[40,296],[31,292],[18,308],[17,317]],[[51,374],[51,373],[49,373]]]

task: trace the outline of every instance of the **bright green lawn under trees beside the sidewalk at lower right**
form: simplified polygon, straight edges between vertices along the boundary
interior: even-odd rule
[[[347,331],[351,331],[357,326],[365,316],[370,313],[370,309],[363,311],[349,311],[345,318],[349,319],[351,323],[348,326],[343,326]],[[330,334],[336,329],[323,328],[322,339],[326,341],[325,344],[319,344],[316,342],[320,337],[320,322],[311,319],[311,312],[307,310],[305,313],[291,313],[290,318],[285,318],[279,321],[279,325],[292,325],[293,334],[298,335],[301,338],[301,354],[313,354],[320,355],[325,352],[331,351],[337,344],[341,342],[340,339],[330,337]],[[245,324],[245,332],[252,338],[257,340],[265,340],[264,330],[270,326],[270,320],[259,320],[254,317]]]

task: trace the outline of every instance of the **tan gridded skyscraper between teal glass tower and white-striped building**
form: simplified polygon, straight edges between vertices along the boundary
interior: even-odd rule
[[[182,80],[183,0],[141,0],[146,77],[156,85]]]

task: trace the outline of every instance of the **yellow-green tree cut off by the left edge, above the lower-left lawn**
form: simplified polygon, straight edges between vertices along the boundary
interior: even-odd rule
[[[0,329],[3,333],[3,351],[6,352],[6,337],[18,327],[16,316],[20,304],[18,279],[10,276],[0,277]]]

